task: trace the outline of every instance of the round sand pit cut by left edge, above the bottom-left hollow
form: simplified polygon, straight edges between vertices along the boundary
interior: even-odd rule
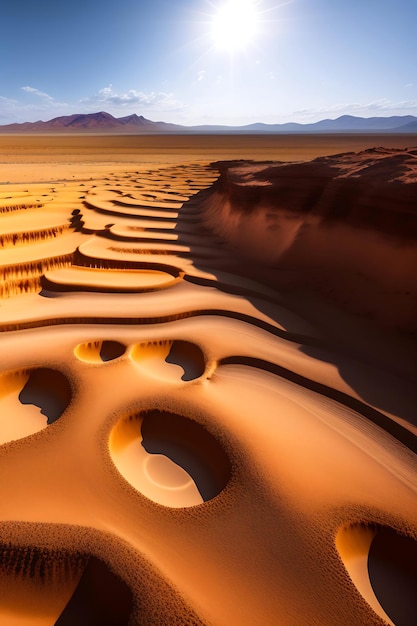
[[[22,369],[0,376],[0,444],[43,430],[61,417],[71,402],[62,372]]]

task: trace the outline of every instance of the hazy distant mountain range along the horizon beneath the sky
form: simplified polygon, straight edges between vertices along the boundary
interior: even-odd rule
[[[0,133],[115,133],[115,134],[163,134],[163,133],[417,133],[417,117],[413,115],[391,117],[355,117],[342,115],[313,124],[248,124],[246,126],[180,126],[167,122],[153,122],[143,115],[114,117],[110,113],[79,113],[55,117],[43,122],[0,125]]]

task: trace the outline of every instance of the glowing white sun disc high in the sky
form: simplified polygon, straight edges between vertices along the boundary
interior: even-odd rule
[[[228,52],[244,50],[258,32],[259,16],[255,0],[228,0],[212,21],[216,48]]]

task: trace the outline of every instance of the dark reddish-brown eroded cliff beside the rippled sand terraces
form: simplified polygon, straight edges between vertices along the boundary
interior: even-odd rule
[[[245,275],[417,332],[417,149],[215,167],[203,222]]]

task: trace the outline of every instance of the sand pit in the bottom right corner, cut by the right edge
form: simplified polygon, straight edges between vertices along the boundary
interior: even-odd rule
[[[416,623],[417,541],[388,526],[354,524],[339,530],[336,547],[377,615],[395,626]]]

